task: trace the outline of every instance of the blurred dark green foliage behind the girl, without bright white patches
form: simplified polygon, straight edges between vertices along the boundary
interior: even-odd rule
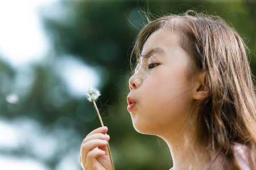
[[[253,1],[149,1],[148,6],[145,1],[60,1],[42,9],[40,14],[55,50],[49,58],[78,57],[98,70],[102,80],[98,105],[104,114],[104,124],[109,127],[115,168],[168,169],[172,162],[166,143],[158,137],[138,134],[126,111],[127,80],[131,73],[129,54],[135,36],[146,22],[141,10],[147,11],[148,8],[152,14],[161,16],[196,8],[200,12],[220,15],[245,39],[251,51],[251,68],[255,70],[255,7]],[[55,8],[58,9],[56,12]],[[26,71],[16,73],[7,63],[0,62],[0,66],[1,95],[18,91],[21,96],[19,105],[6,104],[1,99],[2,118],[28,117],[39,122],[46,131],[58,127],[63,133],[73,129],[78,134],[78,137],[69,134],[65,138],[67,141],[63,141],[65,145],[60,143],[61,149],[52,158],[43,160],[50,169],[55,169],[61,155],[69,150],[79,150],[85,135],[100,126],[92,103],[68,94],[51,59],[31,67],[33,75]],[[26,89],[17,90],[15,79],[20,74],[21,79],[30,78],[28,82],[31,83]],[[29,153],[28,150],[22,150],[23,155]]]

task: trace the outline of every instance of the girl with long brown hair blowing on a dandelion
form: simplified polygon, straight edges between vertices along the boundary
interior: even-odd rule
[[[171,169],[256,169],[255,88],[234,29],[190,11],[163,16],[139,32],[133,53],[127,109],[139,133],[167,142]],[[82,142],[84,169],[111,169],[107,131]]]

